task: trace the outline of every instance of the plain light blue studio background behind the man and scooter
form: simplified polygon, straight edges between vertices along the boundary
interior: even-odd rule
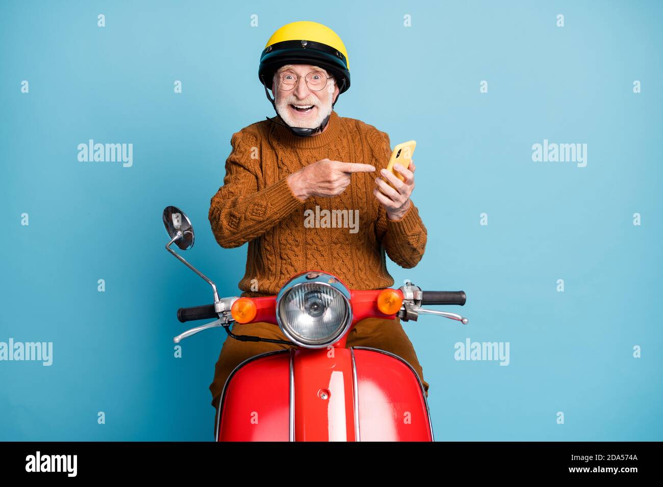
[[[211,292],[164,250],[161,212],[188,213],[186,258],[236,295],[246,247],[215,242],[210,198],[231,135],[273,115],[259,55],[297,20],[347,46],[339,115],[417,140],[428,245],[389,268],[397,285],[465,290],[453,311],[470,320],[404,324],[436,439],[663,439],[660,2],[0,5],[0,341],[54,344],[50,367],[0,362],[0,439],[212,439],[225,332],[174,358],[176,310]],[[78,162],[90,138],[133,143],[133,167]],[[587,143],[587,167],[532,162],[544,138]],[[454,360],[467,337],[509,342],[511,364]]]

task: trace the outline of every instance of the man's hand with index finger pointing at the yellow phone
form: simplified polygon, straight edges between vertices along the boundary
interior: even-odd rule
[[[350,184],[353,172],[373,172],[370,164],[322,159],[288,176],[288,186],[302,201],[310,196],[337,196]]]

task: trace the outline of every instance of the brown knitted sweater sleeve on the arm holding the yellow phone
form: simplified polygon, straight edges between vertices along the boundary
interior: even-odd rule
[[[369,140],[369,143],[376,158],[375,167],[378,170],[386,168],[391,157],[389,135],[376,129],[369,135],[369,139],[373,140],[372,143]],[[416,266],[424,256],[428,232],[414,202],[410,201],[410,208],[399,220],[390,219],[385,207],[379,202],[377,205],[378,217],[375,230],[387,255],[403,268]]]

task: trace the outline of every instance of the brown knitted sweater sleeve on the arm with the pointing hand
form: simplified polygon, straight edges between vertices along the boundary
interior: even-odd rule
[[[247,131],[234,133],[233,147],[225,162],[225,178],[210,201],[209,219],[214,237],[224,248],[238,247],[274,227],[302,207],[304,202],[292,193],[286,178],[263,189],[259,158],[252,158],[257,136]]]

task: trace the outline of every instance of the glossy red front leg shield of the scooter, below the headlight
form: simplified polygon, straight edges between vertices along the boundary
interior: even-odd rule
[[[331,347],[258,356],[237,368],[222,397],[219,441],[290,439],[290,353],[295,441],[432,441],[408,364],[374,349]]]

